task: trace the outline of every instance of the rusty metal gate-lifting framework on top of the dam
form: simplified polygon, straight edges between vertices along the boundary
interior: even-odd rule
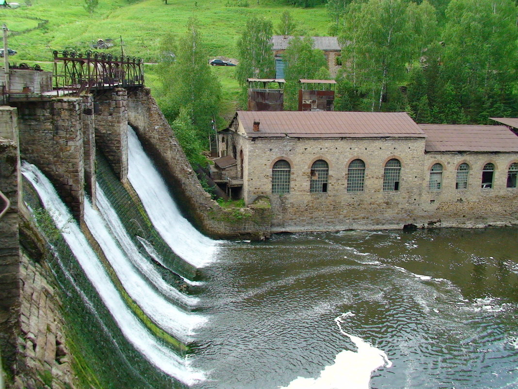
[[[53,54],[54,90],[79,95],[91,90],[144,85],[141,58],[91,50],[84,53],[63,50]]]

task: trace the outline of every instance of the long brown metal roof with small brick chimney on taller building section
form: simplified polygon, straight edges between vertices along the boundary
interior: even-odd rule
[[[426,137],[405,112],[251,112],[237,116],[250,137]],[[259,121],[259,131],[253,131]]]

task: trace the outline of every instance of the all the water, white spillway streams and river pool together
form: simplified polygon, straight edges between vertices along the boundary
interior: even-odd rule
[[[518,387],[517,228],[212,241],[180,216],[132,132],[129,143],[131,183],[164,241],[200,268],[202,282],[185,280],[197,296],[161,277],[155,262],[166,261],[139,237],[143,254],[102,188],[99,211],[87,202],[85,219],[142,311],[194,341],[189,358],[128,309],[77,225],[66,223],[48,180],[28,164],[23,174],[56,211],[56,225],[67,224],[64,237],[83,271],[155,369],[196,389]]]

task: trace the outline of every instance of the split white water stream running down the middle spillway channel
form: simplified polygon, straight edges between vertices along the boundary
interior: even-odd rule
[[[111,267],[117,273],[117,277],[128,295],[156,325],[168,334],[174,335],[182,341],[191,340],[189,336],[194,334],[194,328],[205,323],[206,318],[180,310],[142,278],[132,262],[139,263],[139,267],[143,268],[145,267],[143,263],[146,260],[142,258],[137,247],[127,235],[119,217],[100,187],[97,187],[97,205],[104,219],[92,208],[89,201],[85,201],[84,221],[102,248]],[[109,220],[109,224],[106,220]],[[131,261],[128,257],[131,258]],[[150,270],[146,269],[146,271],[149,272]],[[156,274],[156,277],[156,282],[168,295],[174,295],[175,298],[188,303],[193,302],[189,300],[189,296],[185,296],[180,291],[167,285],[159,274]]]

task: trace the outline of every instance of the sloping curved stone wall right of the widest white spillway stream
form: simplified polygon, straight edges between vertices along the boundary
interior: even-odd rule
[[[147,88],[128,93],[128,122],[160,169],[186,216],[212,237],[250,235],[263,238],[270,231],[269,206],[251,207],[241,215],[224,210],[199,183],[169,123]]]

